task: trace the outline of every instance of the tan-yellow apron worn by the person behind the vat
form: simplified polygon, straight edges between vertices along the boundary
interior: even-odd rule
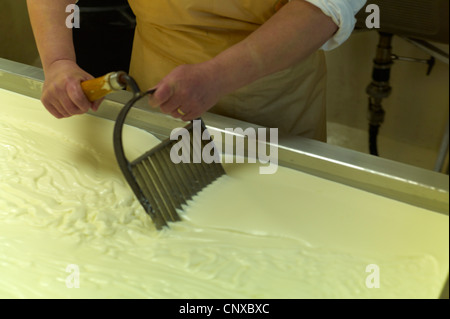
[[[142,88],[153,87],[176,66],[210,60],[242,41],[285,2],[129,0],[137,24],[130,74]],[[223,97],[209,112],[278,128],[280,137],[325,141],[325,87],[325,58],[318,51]]]

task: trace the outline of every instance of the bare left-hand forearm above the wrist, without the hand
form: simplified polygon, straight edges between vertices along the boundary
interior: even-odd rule
[[[44,71],[54,62],[75,62],[72,30],[66,7],[75,0],[27,0],[28,12]]]

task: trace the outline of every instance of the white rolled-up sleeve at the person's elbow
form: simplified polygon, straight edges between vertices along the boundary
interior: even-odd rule
[[[333,50],[344,43],[355,27],[355,15],[364,6],[366,0],[305,0],[322,10],[324,14],[333,19],[339,27],[333,37],[328,40],[322,49]]]

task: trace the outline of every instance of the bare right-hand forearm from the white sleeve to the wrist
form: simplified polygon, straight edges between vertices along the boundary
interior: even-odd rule
[[[303,0],[286,4],[244,41],[216,56],[223,93],[302,61],[337,30],[331,18]]]

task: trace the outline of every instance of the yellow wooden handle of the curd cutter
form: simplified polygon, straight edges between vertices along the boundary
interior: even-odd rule
[[[124,72],[111,72],[101,77],[81,82],[81,88],[89,101],[93,102],[106,96],[112,91],[125,87],[120,82],[120,75]]]

